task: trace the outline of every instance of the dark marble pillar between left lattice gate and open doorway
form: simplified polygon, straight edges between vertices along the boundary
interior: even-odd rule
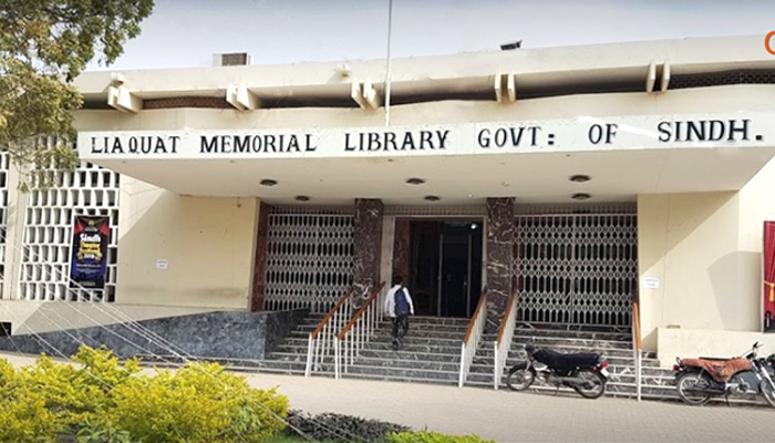
[[[360,306],[380,285],[382,257],[382,215],[384,206],[376,198],[355,198],[353,231],[353,301]]]

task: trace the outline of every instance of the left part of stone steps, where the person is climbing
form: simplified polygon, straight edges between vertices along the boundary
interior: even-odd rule
[[[320,316],[306,319],[260,363],[259,370],[303,374],[308,337],[321,319]],[[383,321],[354,364],[342,377],[454,385],[459,377],[461,343],[467,327],[467,319],[412,317],[401,349],[393,351],[390,336],[392,326],[389,321]],[[322,371],[313,374],[333,377],[333,357],[328,357]]]

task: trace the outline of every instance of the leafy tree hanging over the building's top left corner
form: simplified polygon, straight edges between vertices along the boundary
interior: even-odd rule
[[[83,99],[72,81],[95,58],[113,63],[153,7],[153,0],[0,0],[0,152],[21,167],[78,165],[72,111]],[[42,187],[53,178],[27,174]]]

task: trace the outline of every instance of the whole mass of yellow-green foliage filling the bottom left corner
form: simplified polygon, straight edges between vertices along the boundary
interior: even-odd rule
[[[87,347],[74,360],[16,370],[0,359],[0,442],[254,443],[285,427],[286,396],[215,363],[142,374],[138,361]]]

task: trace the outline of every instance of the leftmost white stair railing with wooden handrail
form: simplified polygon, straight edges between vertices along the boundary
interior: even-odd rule
[[[327,356],[333,351],[333,341],[342,327],[352,317],[352,289],[340,298],[331,310],[318,323],[318,327],[309,336],[307,342],[307,368],[304,377],[310,377],[312,371],[319,371]]]

